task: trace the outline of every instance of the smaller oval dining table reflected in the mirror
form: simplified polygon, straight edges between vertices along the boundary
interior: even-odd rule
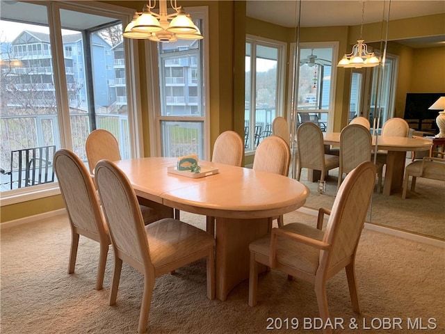
[[[421,138],[372,136],[373,148],[387,151],[383,195],[389,196],[402,188],[405,159],[408,151],[429,151],[431,143]],[[323,133],[325,145],[340,145],[340,132]]]

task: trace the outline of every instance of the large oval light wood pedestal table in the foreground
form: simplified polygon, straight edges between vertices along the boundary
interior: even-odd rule
[[[216,298],[221,301],[249,277],[250,242],[270,232],[272,217],[302,207],[309,196],[309,189],[290,177],[210,161],[199,161],[201,170],[214,172],[203,177],[169,173],[177,158],[145,157],[115,164],[138,198],[216,218]]]

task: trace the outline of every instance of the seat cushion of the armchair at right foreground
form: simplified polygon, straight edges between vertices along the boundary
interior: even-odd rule
[[[323,231],[301,223],[290,223],[284,225],[282,229],[317,240],[322,240],[324,235]],[[253,241],[249,249],[255,253],[268,256],[270,236]],[[320,250],[318,248],[301,244],[299,241],[286,237],[279,236],[277,238],[277,262],[315,274],[318,269],[319,257]]]

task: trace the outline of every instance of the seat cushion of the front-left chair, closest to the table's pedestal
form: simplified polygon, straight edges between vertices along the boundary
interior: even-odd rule
[[[211,234],[177,219],[163,218],[145,226],[150,257],[155,268],[180,261],[215,245]]]

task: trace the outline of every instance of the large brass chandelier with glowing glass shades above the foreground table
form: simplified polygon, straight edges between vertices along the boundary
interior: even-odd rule
[[[170,0],[170,6],[176,13],[167,13],[167,0],[159,0],[159,14],[152,12],[155,6],[156,0],[145,3],[141,13],[134,13],[133,20],[127,24],[122,35],[125,38],[148,39],[154,42],[203,38],[200,29],[193,23],[190,15],[187,15],[181,6],[177,6],[176,0]]]

